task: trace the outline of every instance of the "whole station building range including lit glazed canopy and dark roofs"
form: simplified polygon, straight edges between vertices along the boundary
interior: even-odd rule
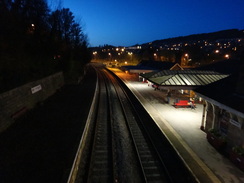
[[[152,67],[150,62],[142,62],[138,66],[127,66],[124,70],[138,74],[139,80],[148,82],[157,89],[177,91],[184,99],[184,94],[187,94],[189,100],[201,103],[203,112],[200,128],[207,134],[214,131],[218,138],[224,139],[224,151],[229,153],[234,147],[244,150],[242,65],[241,61],[227,60],[211,66],[184,70],[178,64],[165,64],[159,68]]]

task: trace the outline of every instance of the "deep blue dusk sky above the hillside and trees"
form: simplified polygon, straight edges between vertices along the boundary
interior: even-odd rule
[[[90,46],[244,29],[244,0],[48,0],[74,13]],[[61,3],[59,3],[61,2]]]

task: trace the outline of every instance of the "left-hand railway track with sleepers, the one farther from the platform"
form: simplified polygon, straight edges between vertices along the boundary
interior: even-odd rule
[[[92,153],[87,182],[112,182],[114,180],[110,100],[106,77],[98,72],[99,103],[95,120]]]

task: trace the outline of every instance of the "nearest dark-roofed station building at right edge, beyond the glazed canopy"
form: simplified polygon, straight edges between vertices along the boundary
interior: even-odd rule
[[[244,70],[194,91],[205,100],[205,131],[217,131],[227,152],[244,148]]]

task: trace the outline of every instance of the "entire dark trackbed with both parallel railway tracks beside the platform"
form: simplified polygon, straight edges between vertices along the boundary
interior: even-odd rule
[[[73,182],[196,182],[128,88],[96,70],[96,107]]]

